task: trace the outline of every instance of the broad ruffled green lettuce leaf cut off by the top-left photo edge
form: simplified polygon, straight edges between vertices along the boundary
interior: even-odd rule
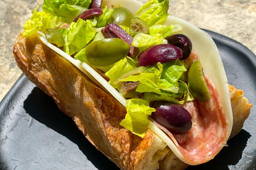
[[[42,8],[70,24],[76,16],[88,9],[91,0],[44,0]]]

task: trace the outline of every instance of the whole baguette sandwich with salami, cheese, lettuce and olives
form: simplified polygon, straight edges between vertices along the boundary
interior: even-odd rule
[[[168,0],[45,0],[13,48],[24,74],[120,169],[185,169],[227,146],[252,106],[210,36]]]

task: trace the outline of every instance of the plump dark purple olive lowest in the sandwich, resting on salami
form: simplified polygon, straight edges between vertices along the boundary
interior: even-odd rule
[[[152,113],[151,117],[164,126],[172,134],[185,134],[192,127],[192,117],[190,113],[183,107],[172,104],[155,102],[154,104],[156,111]]]

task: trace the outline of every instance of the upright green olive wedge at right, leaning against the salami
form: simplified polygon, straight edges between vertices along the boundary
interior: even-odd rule
[[[210,99],[210,92],[207,87],[203,68],[200,60],[196,60],[191,65],[187,75],[188,88],[191,94],[200,102]]]

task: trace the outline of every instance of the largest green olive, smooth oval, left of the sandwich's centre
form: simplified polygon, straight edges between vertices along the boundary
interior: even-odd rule
[[[93,66],[109,66],[124,58],[130,45],[120,38],[93,41],[85,47],[85,56]]]

